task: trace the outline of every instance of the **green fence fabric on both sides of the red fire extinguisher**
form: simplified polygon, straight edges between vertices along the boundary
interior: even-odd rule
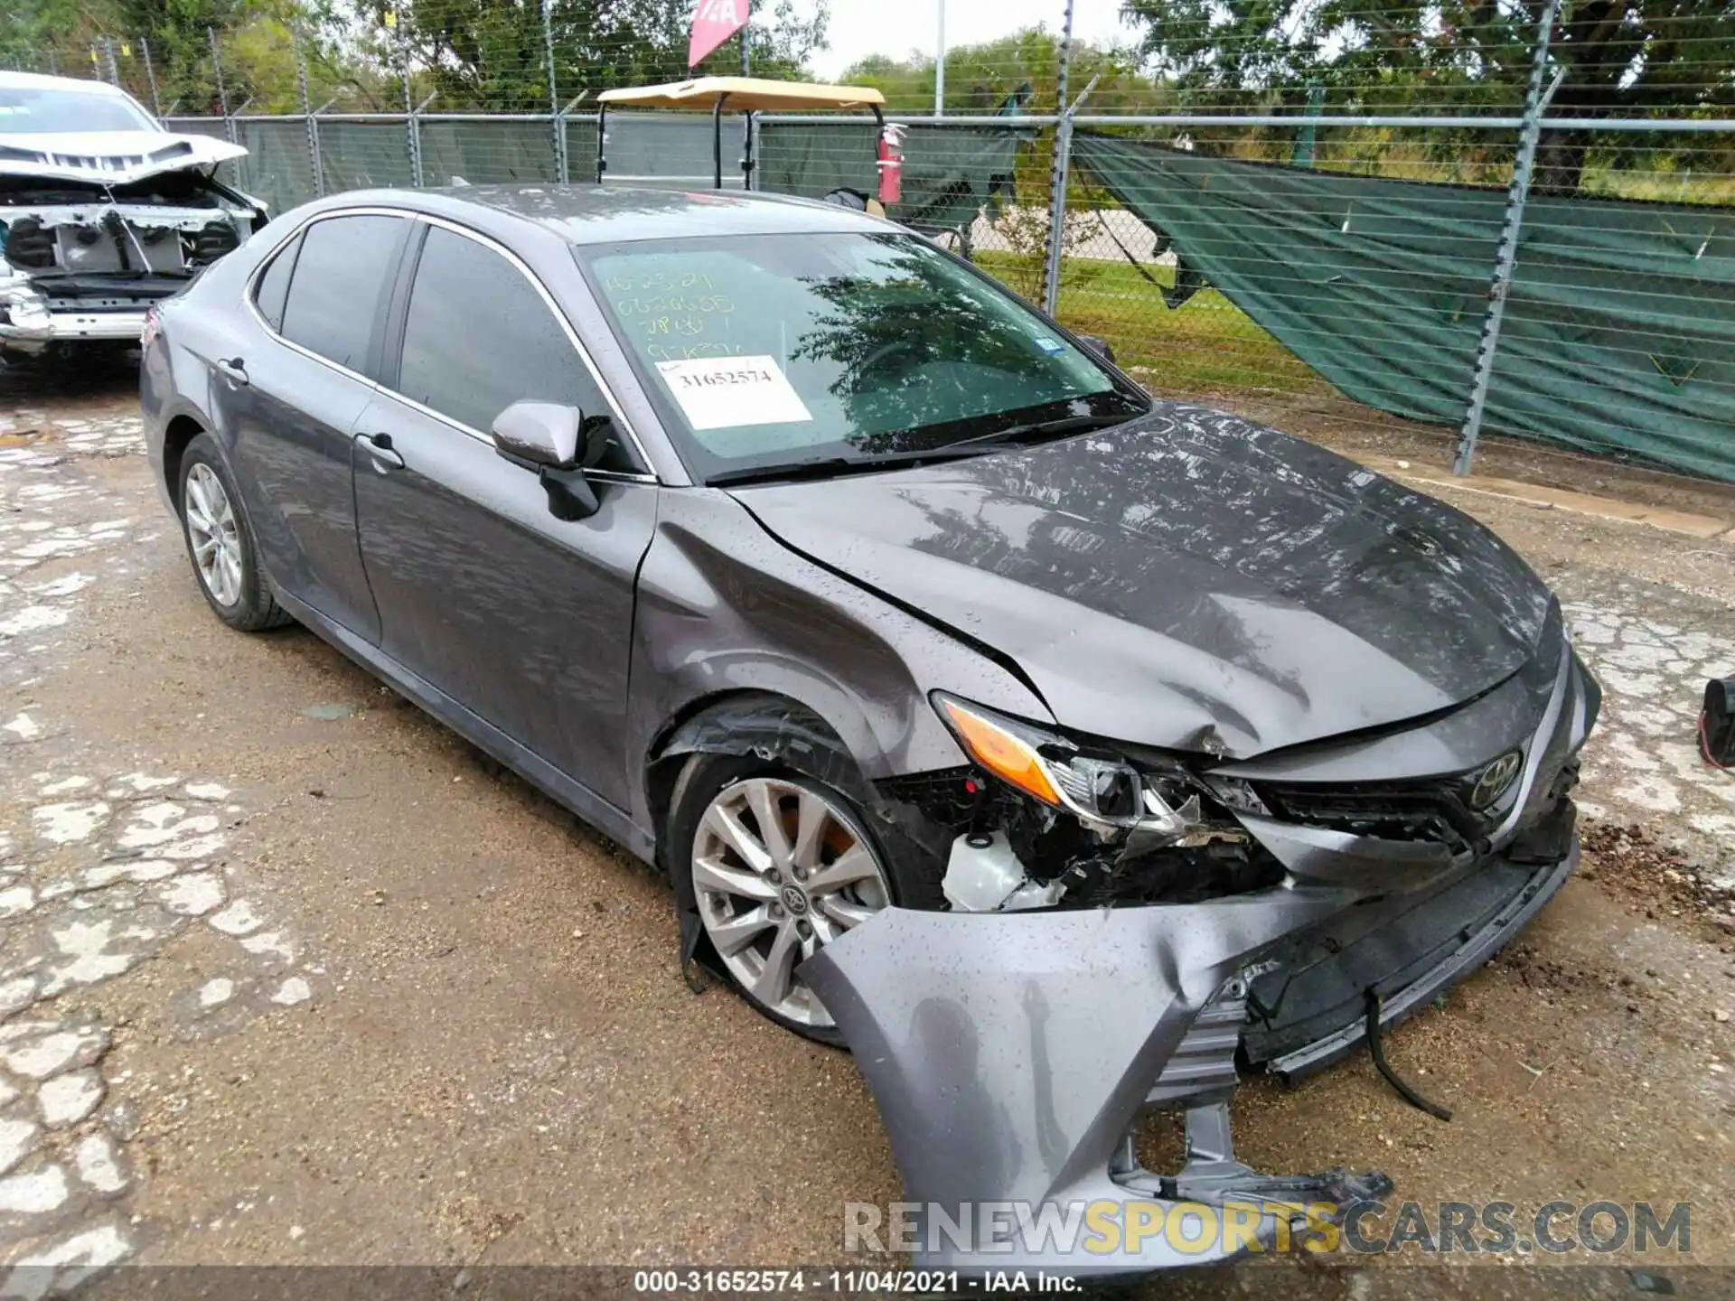
[[[904,134],[904,201],[892,213],[933,234],[968,227],[984,205],[1012,196],[1012,168],[1029,130],[921,127]],[[833,189],[873,194],[871,121],[760,123],[758,189],[817,199]]]

